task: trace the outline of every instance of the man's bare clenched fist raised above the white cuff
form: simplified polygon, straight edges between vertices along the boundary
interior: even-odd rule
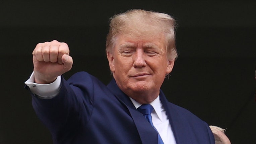
[[[52,83],[72,68],[73,59],[66,43],[57,40],[39,43],[32,54],[35,83]]]

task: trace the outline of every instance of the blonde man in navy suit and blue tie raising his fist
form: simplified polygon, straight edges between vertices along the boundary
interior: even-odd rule
[[[73,63],[68,45],[39,43],[25,83],[54,143],[213,144],[209,126],[160,90],[177,57],[174,27],[163,13],[112,17],[106,53],[114,78],[107,86],[86,72],[65,81],[61,75]]]

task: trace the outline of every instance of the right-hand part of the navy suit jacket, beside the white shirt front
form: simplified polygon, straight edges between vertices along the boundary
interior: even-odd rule
[[[160,100],[165,107],[177,144],[215,143],[214,136],[206,122],[187,109],[169,102],[162,91]]]

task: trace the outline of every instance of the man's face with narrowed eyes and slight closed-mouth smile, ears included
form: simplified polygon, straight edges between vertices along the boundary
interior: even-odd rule
[[[118,87],[128,96],[159,95],[166,74],[172,71],[174,60],[167,59],[164,35],[151,38],[120,35],[108,52],[110,69]],[[136,98],[134,98],[136,100]]]

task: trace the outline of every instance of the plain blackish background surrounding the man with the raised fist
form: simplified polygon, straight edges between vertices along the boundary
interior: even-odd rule
[[[177,19],[176,60],[162,90],[209,125],[227,128],[232,144],[256,142],[256,1],[0,1],[0,144],[51,144],[24,81],[39,42],[68,43],[74,65],[111,79],[105,40],[109,18],[129,9]]]

